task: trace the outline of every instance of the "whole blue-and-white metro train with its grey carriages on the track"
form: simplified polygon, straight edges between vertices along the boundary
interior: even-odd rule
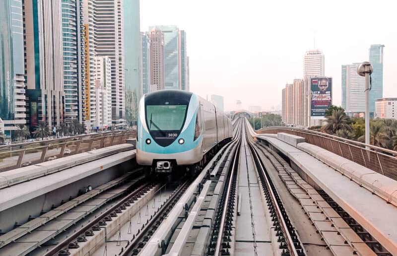
[[[198,95],[179,90],[145,94],[138,108],[136,162],[157,173],[198,169],[232,139],[230,119]]]

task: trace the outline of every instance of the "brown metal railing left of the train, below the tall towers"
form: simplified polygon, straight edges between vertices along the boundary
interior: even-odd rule
[[[0,148],[0,172],[123,144],[135,137],[136,130],[124,130],[8,145]]]

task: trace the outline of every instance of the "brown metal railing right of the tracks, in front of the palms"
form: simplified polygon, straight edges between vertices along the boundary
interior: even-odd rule
[[[300,128],[270,127],[257,132],[286,132],[304,137],[308,143],[322,147],[375,172],[397,180],[397,151],[344,139],[319,131]]]

